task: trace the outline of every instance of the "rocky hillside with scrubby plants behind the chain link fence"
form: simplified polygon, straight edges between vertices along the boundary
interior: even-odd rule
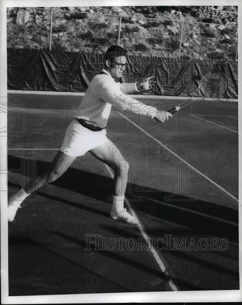
[[[99,48],[105,51],[119,39],[120,45],[136,52],[166,49],[178,52],[180,49],[188,53],[227,52],[231,57],[237,53],[237,7],[234,6],[52,9],[51,27],[50,8],[9,8],[7,46],[49,49],[51,42],[52,50],[80,52]]]

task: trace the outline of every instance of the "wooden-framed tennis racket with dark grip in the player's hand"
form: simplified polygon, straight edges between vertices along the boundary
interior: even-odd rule
[[[206,74],[200,81],[196,92],[187,99],[185,102],[182,102],[179,106],[176,106],[169,110],[170,113],[175,113],[181,108],[189,105],[194,100],[191,100],[194,95],[199,91],[200,96],[205,100],[221,99],[229,88],[228,78],[220,72],[210,72]]]

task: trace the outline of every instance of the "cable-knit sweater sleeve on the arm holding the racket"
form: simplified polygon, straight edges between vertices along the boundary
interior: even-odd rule
[[[136,85],[135,85],[136,86]],[[100,97],[107,103],[114,105],[121,111],[131,111],[133,113],[153,118],[157,109],[145,105],[138,100],[125,95],[119,88],[119,84],[112,84],[110,81],[103,82],[100,86]]]

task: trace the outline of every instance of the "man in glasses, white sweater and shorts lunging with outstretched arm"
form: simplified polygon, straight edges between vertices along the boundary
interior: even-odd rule
[[[112,45],[105,53],[105,66],[100,74],[96,75],[83,99],[74,120],[67,128],[63,144],[57,152],[49,169],[36,177],[35,185],[28,183],[8,202],[8,221],[14,220],[21,203],[45,183],[51,183],[59,178],[70,167],[78,156],[90,152],[97,159],[103,161],[111,168],[114,174],[113,203],[110,217],[137,224],[135,217],[124,208],[125,189],[127,186],[128,162],[121,161],[117,156],[110,154],[110,147],[116,146],[106,137],[104,127],[110,115],[111,106],[116,106],[121,111],[131,111],[155,119],[158,122],[168,120],[172,115],[166,111],[157,110],[147,106],[127,94],[151,88],[155,81],[153,76],[138,83],[119,83],[126,66],[127,50],[117,45]],[[110,190],[111,192],[111,190]]]

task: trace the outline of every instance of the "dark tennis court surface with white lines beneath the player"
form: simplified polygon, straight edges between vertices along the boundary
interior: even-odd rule
[[[21,114],[8,137],[10,198],[52,161],[81,96],[8,97]],[[107,137],[131,164],[126,204],[139,224],[109,217],[113,171],[78,157],[9,223],[9,296],[239,289],[237,106],[197,100],[160,125],[113,107]]]

